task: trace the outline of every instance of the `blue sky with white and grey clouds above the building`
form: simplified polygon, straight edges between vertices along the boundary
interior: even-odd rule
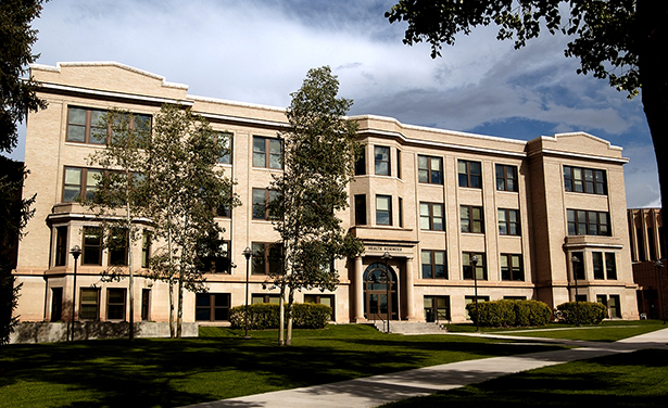
[[[329,65],[350,115],[531,140],[585,131],[623,148],[627,206],[659,206],[640,97],[577,75],[568,38],[527,47],[475,28],[431,59],[402,42],[392,0],[51,0],[33,24],[37,63],[115,61],[189,86],[192,95],[286,107],[310,68]],[[22,130],[25,139],[25,128]],[[12,154],[22,160],[23,141]]]

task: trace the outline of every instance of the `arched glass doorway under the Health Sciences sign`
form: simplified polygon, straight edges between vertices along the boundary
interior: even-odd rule
[[[376,263],[364,271],[364,317],[367,320],[399,319],[399,302],[396,297],[396,273],[390,267],[386,273],[386,265]],[[390,279],[389,299],[387,277]]]

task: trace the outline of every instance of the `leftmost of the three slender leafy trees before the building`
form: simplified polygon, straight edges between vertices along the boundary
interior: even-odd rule
[[[102,119],[108,133],[105,148],[89,156],[89,163],[101,167],[98,189],[91,197],[81,197],[101,220],[104,246],[112,253],[104,280],[119,280],[128,269],[129,341],[135,340],[135,265],[133,247],[146,233],[138,219],[147,214],[147,142],[151,123],[147,116],[113,110]],[[106,126],[104,126],[106,125]]]

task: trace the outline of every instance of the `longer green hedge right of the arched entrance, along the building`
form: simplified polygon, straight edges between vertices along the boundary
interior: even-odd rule
[[[466,305],[466,309],[475,323],[478,318],[476,304]],[[489,328],[545,326],[552,316],[550,307],[538,301],[480,302],[478,310],[480,311],[479,326]]]

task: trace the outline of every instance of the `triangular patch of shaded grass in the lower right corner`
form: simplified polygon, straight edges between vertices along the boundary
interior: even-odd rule
[[[386,408],[666,407],[668,352],[645,349],[502,377]]]

